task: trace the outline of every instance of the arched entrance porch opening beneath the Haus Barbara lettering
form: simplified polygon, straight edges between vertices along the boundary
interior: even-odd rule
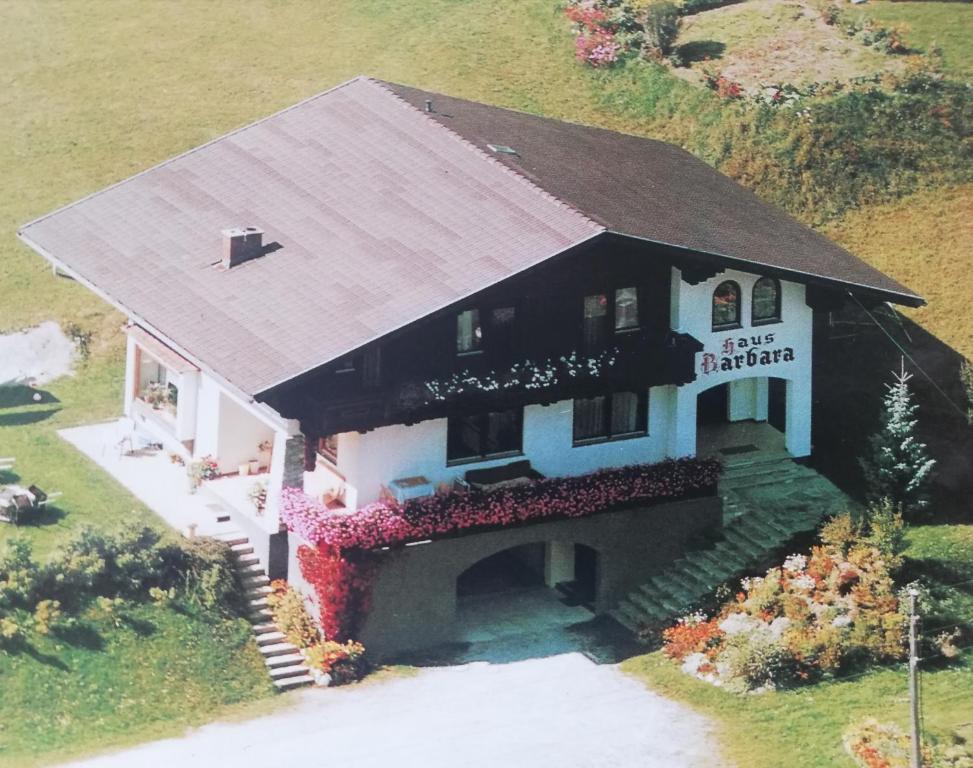
[[[752,376],[700,392],[696,402],[697,453],[785,451],[787,384],[776,377]]]

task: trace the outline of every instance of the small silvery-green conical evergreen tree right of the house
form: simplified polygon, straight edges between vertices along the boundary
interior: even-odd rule
[[[916,411],[905,370],[893,373],[895,383],[887,385],[882,428],[869,438],[871,455],[860,461],[873,502],[888,499],[901,506],[903,514],[915,517],[929,505],[929,478],[936,462],[926,454],[925,443],[916,439]]]

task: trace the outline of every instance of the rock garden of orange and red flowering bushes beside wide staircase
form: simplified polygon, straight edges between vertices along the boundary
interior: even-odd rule
[[[872,508],[862,523],[827,523],[809,555],[791,555],[744,579],[715,616],[665,631],[684,671],[731,690],[765,690],[905,657],[906,617],[892,572],[901,564],[901,516]]]

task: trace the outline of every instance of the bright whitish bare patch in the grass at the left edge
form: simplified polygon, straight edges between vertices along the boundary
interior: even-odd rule
[[[72,372],[75,346],[57,323],[0,335],[0,387],[37,386]]]

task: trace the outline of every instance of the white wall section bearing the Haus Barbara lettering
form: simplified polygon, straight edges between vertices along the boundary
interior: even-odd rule
[[[754,326],[751,295],[759,278],[760,275],[727,270],[698,285],[689,285],[673,269],[672,327],[703,343],[703,351],[696,355],[696,381],[679,387],[676,398],[674,418],[678,427],[670,441],[670,453],[674,456],[695,453],[699,393],[730,383],[728,417],[762,421],[767,418],[766,387],[771,377],[787,381],[787,450],[793,456],[811,452],[812,311],[804,301],[804,286],[781,280],[780,322]],[[741,327],[713,331],[713,291],[724,280],[734,280],[740,286]],[[765,352],[768,356],[762,357]],[[724,369],[727,365],[730,370]],[[746,379],[752,381],[743,383]]]

